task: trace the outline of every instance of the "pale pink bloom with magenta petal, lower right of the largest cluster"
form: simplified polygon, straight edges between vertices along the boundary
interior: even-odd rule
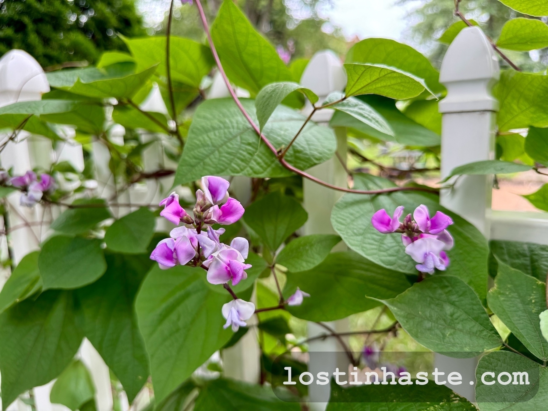
[[[221,249],[202,264],[208,268],[207,281],[212,284],[224,284],[232,280],[232,285],[236,286],[242,279],[246,279],[247,273],[244,270],[252,267],[244,263],[248,252],[249,243],[243,237],[233,239],[230,247],[222,244]]]

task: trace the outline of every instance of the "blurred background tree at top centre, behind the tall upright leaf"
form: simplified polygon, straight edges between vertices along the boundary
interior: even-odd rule
[[[347,42],[338,28],[318,16],[320,7],[329,7],[331,0],[237,0],[257,30],[276,47],[283,47],[292,59],[310,58],[318,50],[332,49],[344,55]],[[204,41],[196,7],[179,6],[173,14],[172,33]],[[203,1],[208,20],[213,21],[222,0]],[[166,22],[162,24],[165,31]]]

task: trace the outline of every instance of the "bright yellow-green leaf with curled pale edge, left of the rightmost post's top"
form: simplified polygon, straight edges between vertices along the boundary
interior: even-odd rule
[[[396,100],[407,100],[424,90],[432,93],[422,78],[381,64],[346,63],[348,82],[346,96],[379,94]],[[433,94],[433,93],[432,93]]]

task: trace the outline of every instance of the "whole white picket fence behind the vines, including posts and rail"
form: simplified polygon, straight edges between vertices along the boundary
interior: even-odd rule
[[[442,177],[450,170],[462,164],[494,158],[494,140],[496,132],[496,111],[498,102],[493,98],[491,89],[499,78],[499,65],[486,36],[478,27],[465,28],[450,45],[443,60],[440,82],[446,85],[448,94],[439,103],[439,111],[443,114],[442,128]],[[313,90],[321,99],[334,91],[342,90],[346,82],[342,64],[334,53],[319,52],[313,56],[307,66],[301,83]],[[42,68],[30,55],[21,50],[12,50],[0,59],[0,106],[12,104],[16,101],[31,101],[41,99],[41,95],[48,92],[49,85]],[[245,96],[246,92],[240,90]],[[228,96],[226,87],[218,78],[214,79],[209,98]],[[149,98],[142,105],[147,111],[167,112],[165,105],[154,89]],[[311,107],[303,110],[306,112]],[[310,112],[310,111],[309,111]],[[327,125],[332,112],[324,110],[317,112],[313,120]],[[111,139],[117,138],[117,133],[123,130],[112,130]],[[341,158],[346,158],[345,129],[336,129],[338,138],[338,152]],[[67,131],[70,136],[70,130]],[[7,136],[3,137],[4,139]],[[150,135],[142,135],[143,141],[148,141]],[[112,193],[112,176],[108,169],[109,153],[103,146],[94,144],[94,159],[97,164],[98,193],[109,197]],[[158,168],[158,165],[169,163],[164,158],[161,145],[155,143],[144,156],[145,171]],[[68,161],[78,170],[83,169],[82,147],[71,141],[53,150],[49,140],[31,136],[21,132],[14,142],[10,142],[0,155],[2,167],[13,167],[16,174],[42,165],[49,167],[54,161]],[[170,164],[175,167],[175,164]],[[313,167],[309,172],[325,181],[345,186],[347,175],[343,165],[337,158]],[[169,180],[169,179],[168,179]],[[169,188],[169,181],[164,185]],[[491,209],[493,176],[463,176],[452,190],[443,190],[441,203],[443,206],[460,214],[474,224],[487,238],[509,239],[548,244],[548,213],[520,213],[499,212]],[[236,178],[233,188],[240,198],[249,196],[250,181],[247,178]],[[133,187],[120,198],[121,203],[157,203],[162,195],[156,181],[147,181],[146,186]],[[308,180],[304,181],[304,207],[309,213],[309,220],[304,227],[305,234],[333,233],[330,225],[330,212],[333,204],[340,197],[340,192],[328,190]],[[19,206],[17,193],[8,197],[10,226],[14,227],[10,233],[11,246],[14,251],[14,262],[20,261],[22,256],[38,248],[38,245],[49,233],[49,223],[59,214],[60,210],[53,209],[50,214],[37,206],[33,209]],[[115,215],[129,212],[128,207],[115,208]],[[162,223],[158,223],[162,224]],[[167,228],[167,227],[166,227]],[[2,256],[7,256],[7,242],[5,237],[1,242]],[[343,247],[343,246],[339,246]],[[3,273],[3,282],[9,273]],[[330,326],[339,331],[348,329],[347,321],[335,321]],[[324,330],[316,324],[309,324],[309,336],[323,333]],[[310,344],[311,351],[332,351],[334,355],[330,364],[310,364],[313,372],[316,368],[338,363],[337,351],[340,347],[335,339],[316,340]],[[99,354],[89,341],[84,341],[78,356],[88,366],[96,385],[96,401],[98,411],[110,411],[113,399],[110,386],[109,371]],[[454,360],[437,358],[439,367],[475,367],[476,359]],[[256,382],[259,376],[259,349],[256,338],[248,333],[240,343],[226,350],[224,353],[225,374],[250,382]],[[442,369],[443,370],[443,369]],[[49,390],[52,383],[34,389],[38,411],[61,411],[64,406],[49,402]],[[319,400],[319,393],[311,385],[312,399]],[[467,398],[473,398],[473,387],[463,387],[459,391]],[[129,408],[127,399],[122,398],[124,411]],[[134,403],[135,411],[146,406],[149,393],[143,390]],[[313,410],[323,410],[325,403],[311,404]],[[22,401],[17,400],[10,407],[10,411],[30,411]],[[66,410],[66,409],[65,409]]]

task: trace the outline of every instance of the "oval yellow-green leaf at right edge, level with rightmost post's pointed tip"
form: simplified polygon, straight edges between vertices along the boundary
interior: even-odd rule
[[[512,19],[503,26],[496,45],[503,49],[528,52],[548,46],[548,26],[536,19]]]

